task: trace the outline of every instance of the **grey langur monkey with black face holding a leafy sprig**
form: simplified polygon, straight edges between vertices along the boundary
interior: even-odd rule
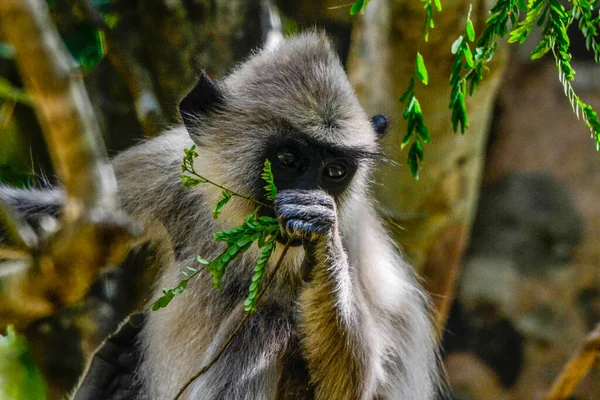
[[[221,190],[181,184],[184,148],[196,145],[203,176],[262,202],[269,159],[278,194],[259,212],[276,217],[282,233],[268,268],[292,244],[256,313],[180,398],[436,398],[443,385],[429,300],[370,196],[388,120],[366,116],[326,35],[286,38],[216,83],[202,73],[179,110],[182,126],[112,163],[123,209],[157,247],[153,298],[175,287],[197,255],[222,252],[215,231],[255,211],[234,197],[213,219]],[[200,276],[165,309],[145,312],[141,326],[127,325],[123,340],[113,337],[129,359],[139,356],[127,383],[115,388],[117,366],[90,394],[85,383],[98,371],[90,368],[77,392],[88,394],[75,398],[174,398],[243,318],[257,255],[251,247],[235,259],[221,289]],[[124,345],[132,331],[135,345]]]

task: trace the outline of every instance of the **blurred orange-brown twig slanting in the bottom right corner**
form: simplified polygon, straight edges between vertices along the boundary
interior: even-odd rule
[[[565,365],[545,400],[567,399],[598,357],[600,357],[600,324],[587,335],[583,345]]]

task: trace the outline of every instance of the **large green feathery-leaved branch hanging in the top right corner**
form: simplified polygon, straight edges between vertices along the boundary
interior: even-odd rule
[[[542,27],[542,38],[531,54],[531,59],[543,57],[549,51],[554,55],[559,72],[559,80],[564,86],[565,95],[577,117],[581,117],[594,138],[596,149],[600,150],[600,122],[593,108],[581,100],[575,93],[571,81],[575,78],[575,70],[571,66],[570,40],[567,29],[574,19],[579,20],[579,27],[586,38],[586,46],[594,52],[596,62],[600,60],[600,46],[597,41],[597,26],[600,17],[592,17],[593,6],[586,0],[573,0],[572,12],[567,12],[558,0],[530,0],[527,4],[527,15],[518,21],[520,9],[524,5],[519,0],[499,0],[491,9],[492,14],[486,21],[486,27],[476,42],[475,51],[471,52],[469,42],[475,38],[475,30],[471,21],[471,10],[467,16],[465,32],[452,45],[452,53],[456,55],[450,75],[450,109],[452,110],[452,128],[464,133],[469,126],[465,97],[472,96],[479,88],[484,72],[489,68],[498,47],[497,40],[509,33],[508,23],[515,28],[510,31],[509,43],[523,43],[534,26]]]

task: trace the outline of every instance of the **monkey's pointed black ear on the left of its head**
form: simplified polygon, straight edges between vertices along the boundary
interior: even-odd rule
[[[179,114],[185,126],[193,126],[194,116],[206,115],[213,111],[224,101],[223,93],[206,72],[202,71],[200,80],[191,92],[179,103]]]

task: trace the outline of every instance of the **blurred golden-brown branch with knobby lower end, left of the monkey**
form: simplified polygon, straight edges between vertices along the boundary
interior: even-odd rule
[[[30,256],[12,270],[4,267],[0,320],[23,324],[81,299],[103,267],[124,259],[132,233],[117,209],[116,179],[81,75],[46,3],[6,0],[0,18],[66,189],[61,227],[41,242],[9,210],[3,213]]]

